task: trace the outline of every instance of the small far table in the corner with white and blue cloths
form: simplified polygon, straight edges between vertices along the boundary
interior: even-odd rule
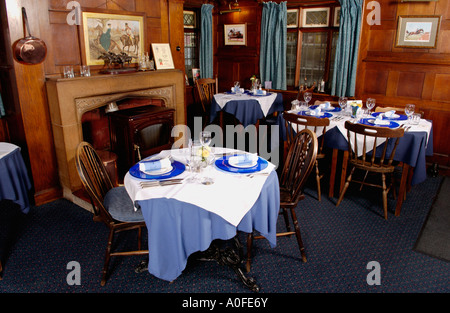
[[[264,90],[263,92],[252,93],[248,90],[240,93],[223,92],[214,95],[210,122],[221,114],[227,112],[239,120],[247,127],[256,125],[258,121],[264,120],[271,114],[283,112],[283,95],[281,93]]]

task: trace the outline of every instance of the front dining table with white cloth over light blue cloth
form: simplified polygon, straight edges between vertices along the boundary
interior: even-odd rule
[[[200,172],[186,166],[189,149],[181,148],[141,160],[124,177],[135,209],[142,211],[147,225],[148,272],[160,279],[175,280],[190,255],[207,251],[217,239],[235,239],[238,232],[255,230],[276,246],[280,191],[275,165],[245,151],[209,149],[208,164]],[[250,163],[236,161],[247,156],[252,157]],[[167,159],[171,165],[162,172],[142,167],[145,162]],[[203,183],[204,177],[208,183]],[[239,276],[247,285],[242,271]],[[256,282],[248,287],[259,288]]]

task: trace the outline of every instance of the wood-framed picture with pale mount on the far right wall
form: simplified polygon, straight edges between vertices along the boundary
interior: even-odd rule
[[[395,47],[436,48],[440,16],[399,16]]]

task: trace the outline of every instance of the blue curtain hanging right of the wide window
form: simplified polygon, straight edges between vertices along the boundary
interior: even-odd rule
[[[341,2],[341,20],[331,94],[353,97],[355,95],[359,33],[364,0],[339,1]]]

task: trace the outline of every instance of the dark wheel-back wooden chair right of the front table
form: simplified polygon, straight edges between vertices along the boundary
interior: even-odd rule
[[[309,129],[301,130],[292,141],[289,147],[289,153],[286,162],[283,166],[280,184],[280,214],[283,214],[286,224],[286,232],[277,233],[277,237],[294,235],[297,238],[297,243],[300,249],[302,261],[306,262],[306,253],[303,246],[303,241],[300,233],[300,226],[298,224],[295,208],[300,200],[305,198],[303,188],[306,180],[311,173],[317,157],[317,136]],[[294,230],[291,231],[288,211],[291,213],[291,218]],[[261,239],[263,236],[254,236],[249,234],[247,236],[247,271],[250,271],[251,251],[253,239]]]

